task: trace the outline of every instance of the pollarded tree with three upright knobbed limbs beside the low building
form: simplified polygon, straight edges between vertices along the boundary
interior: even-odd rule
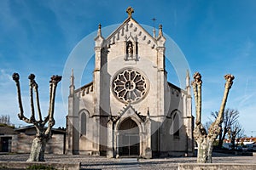
[[[55,125],[54,119],[54,108],[55,108],[55,92],[58,82],[61,81],[60,76],[52,76],[49,81],[49,111],[48,115],[42,119],[42,114],[39,105],[39,96],[38,96],[38,83],[35,81],[35,75],[31,74],[28,79],[30,80],[30,100],[31,100],[31,117],[27,118],[24,116],[21,93],[20,93],[20,76],[18,73],[13,74],[13,79],[16,82],[17,92],[18,92],[18,102],[20,106],[20,113],[18,114],[20,120],[31,123],[37,130],[36,137],[32,141],[32,149],[30,156],[27,161],[44,161],[44,150],[47,141],[51,137],[51,128]],[[35,109],[33,102],[33,89],[36,95],[36,102],[38,107],[38,120],[35,118]],[[48,122],[48,127],[44,125]]]

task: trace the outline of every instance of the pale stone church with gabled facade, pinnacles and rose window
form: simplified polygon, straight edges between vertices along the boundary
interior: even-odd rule
[[[167,82],[162,26],[151,35],[126,12],[108,37],[98,28],[92,82],[75,88],[71,76],[67,154],[191,156],[189,74],[185,89]]]

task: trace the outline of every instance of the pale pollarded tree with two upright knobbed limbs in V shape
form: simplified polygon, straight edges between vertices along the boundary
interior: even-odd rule
[[[195,72],[194,81],[192,82],[194,95],[195,95],[195,130],[194,136],[195,141],[198,145],[197,152],[197,162],[198,163],[212,163],[212,148],[213,141],[218,137],[218,134],[221,130],[221,123],[223,122],[223,113],[224,108],[228,99],[228,94],[230,92],[230,88],[233,84],[234,76],[226,75],[224,76],[225,89],[224,89],[224,97],[222,99],[222,103],[220,105],[220,109],[218,111],[218,116],[212,125],[209,127],[208,132],[205,127],[203,127],[201,123],[201,74],[199,72]]]

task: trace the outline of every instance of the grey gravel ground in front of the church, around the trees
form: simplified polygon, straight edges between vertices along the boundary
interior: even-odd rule
[[[0,155],[0,161],[26,161],[28,154]],[[119,158],[105,156],[45,155],[46,161],[81,162],[82,169],[177,169],[177,163],[191,163],[196,157],[168,157],[154,159]],[[214,163],[256,163],[256,156],[233,156],[213,153]]]

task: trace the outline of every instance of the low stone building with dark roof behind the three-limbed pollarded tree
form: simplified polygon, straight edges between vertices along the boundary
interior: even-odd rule
[[[34,126],[11,127],[0,124],[0,152],[30,153],[32,140],[37,130]],[[45,153],[64,154],[66,131],[64,128],[52,128],[51,138],[46,144]]]

